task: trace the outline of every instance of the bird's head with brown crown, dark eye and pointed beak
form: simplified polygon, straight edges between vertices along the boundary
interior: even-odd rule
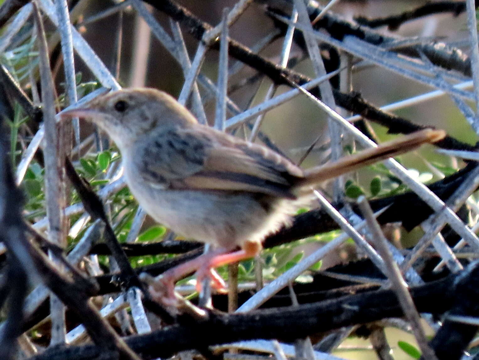
[[[61,113],[97,124],[116,145],[128,147],[143,135],[163,127],[188,127],[195,117],[172,96],[156,89],[125,89],[97,96],[81,107]]]

